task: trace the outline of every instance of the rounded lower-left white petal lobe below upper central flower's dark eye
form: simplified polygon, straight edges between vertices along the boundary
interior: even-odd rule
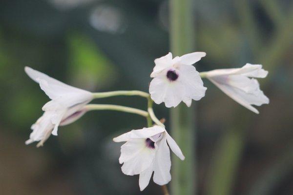
[[[176,107],[185,96],[185,86],[178,81],[169,82],[167,78],[157,77],[151,80],[149,93],[156,104],[165,102],[167,108]]]

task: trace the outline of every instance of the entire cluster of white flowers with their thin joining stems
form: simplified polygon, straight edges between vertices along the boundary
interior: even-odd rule
[[[204,52],[194,52],[173,58],[172,54],[168,53],[164,57],[155,59],[155,67],[150,75],[152,80],[149,94],[141,91],[91,93],[25,67],[27,75],[39,83],[41,89],[51,99],[42,107],[44,113],[32,125],[33,132],[25,143],[39,141],[37,146],[42,146],[51,134],[57,136],[59,126],[76,121],[89,110],[109,109],[139,114],[150,121],[148,128],[132,130],[113,138],[115,142],[126,142],[121,146],[119,158],[120,164],[123,164],[122,172],[129,176],[139,175],[141,191],[148,185],[152,173],[155,183],[165,185],[171,180],[169,148],[181,160],[185,157],[175,140],[167,133],[164,124],[155,117],[152,107],[148,107],[146,112],[119,105],[88,103],[93,98],[137,95],[157,104],[164,102],[168,108],[178,106],[181,101],[189,107],[192,99],[200,100],[205,96],[207,88],[204,87],[202,78],[208,78],[230,98],[254,113],[258,111],[251,105],[260,106],[269,103],[269,98],[260,90],[259,83],[255,79],[265,78],[268,74],[261,65],[248,63],[242,68],[199,73],[192,64],[205,56]]]

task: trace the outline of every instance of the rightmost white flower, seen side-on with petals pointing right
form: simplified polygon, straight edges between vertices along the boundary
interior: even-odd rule
[[[247,63],[242,68],[218,69],[206,74],[225,94],[256,114],[259,112],[251,104],[260,106],[269,103],[269,98],[260,90],[258,81],[254,79],[268,75],[268,71],[262,69],[260,64]]]

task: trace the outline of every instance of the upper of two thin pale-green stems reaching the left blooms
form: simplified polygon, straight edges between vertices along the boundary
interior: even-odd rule
[[[111,91],[111,92],[99,92],[93,93],[94,98],[108,98],[113,96],[141,96],[144,98],[148,98],[149,94],[143,91]]]

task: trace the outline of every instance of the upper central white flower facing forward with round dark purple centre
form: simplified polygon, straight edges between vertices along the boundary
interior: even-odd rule
[[[203,98],[207,88],[203,86],[203,81],[192,64],[205,56],[204,52],[194,52],[172,59],[172,54],[168,53],[155,59],[155,67],[150,75],[153,79],[149,85],[150,97],[154,102],[165,102],[169,108],[176,107],[183,101],[189,107],[192,99]]]

